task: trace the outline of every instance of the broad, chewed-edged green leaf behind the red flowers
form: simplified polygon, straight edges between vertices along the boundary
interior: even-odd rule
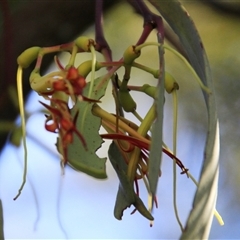
[[[99,77],[94,81],[93,99],[98,100],[104,96],[110,77]],[[90,83],[84,89],[83,95],[87,95]],[[77,129],[83,135],[87,150],[80,139],[74,134],[73,143],[68,146],[68,164],[75,170],[84,172],[95,178],[106,178],[106,158],[99,158],[96,151],[101,147],[103,140],[99,136],[101,119],[92,114],[94,103],[78,101],[71,109],[71,115],[74,117],[77,112]]]

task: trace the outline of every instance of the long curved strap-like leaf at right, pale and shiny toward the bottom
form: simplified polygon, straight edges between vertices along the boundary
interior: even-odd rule
[[[217,198],[219,131],[214,89],[206,53],[187,11],[178,1],[149,0],[178,35],[188,59],[211,94],[204,94],[208,110],[208,132],[203,166],[193,208],[181,239],[208,238]]]

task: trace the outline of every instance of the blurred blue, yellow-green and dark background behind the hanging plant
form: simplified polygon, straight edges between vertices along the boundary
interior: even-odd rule
[[[66,5],[61,7],[56,7],[54,1],[49,1],[49,5],[40,2],[38,3],[40,5],[37,5],[38,8],[31,5],[31,1],[19,1],[18,4],[15,4],[15,1],[2,2],[10,4],[8,5],[10,14],[6,13],[6,5],[1,3],[1,121],[14,119],[18,112],[5,88],[9,83],[14,84],[17,55],[30,46],[60,44],[71,41],[79,34],[94,37],[94,28],[91,26],[94,7],[89,4],[91,1],[78,1],[80,3],[69,1],[69,4],[63,3]],[[240,238],[239,5],[236,2],[235,7],[232,7],[220,1],[217,3],[182,1],[182,3],[196,24],[209,58],[220,121],[221,152],[217,209],[225,225],[221,227],[216,219],[213,219],[210,238],[238,239]],[[105,8],[105,36],[112,48],[113,59],[118,60],[124,50],[138,40],[143,22],[126,2],[106,1]],[[19,19],[22,19],[23,14],[28,16],[29,20],[22,21],[20,25]],[[6,17],[8,24],[11,23],[13,26],[11,29],[10,25],[6,24]],[[8,29],[7,32],[6,29]],[[148,40],[155,41],[155,34],[151,34]],[[88,54],[79,56],[79,63],[91,58]],[[68,57],[67,54],[62,55],[61,61],[64,63]],[[45,61],[46,71],[56,68],[51,64],[51,59],[49,57]],[[144,48],[138,62],[157,68],[156,48]],[[47,69],[50,64],[50,68]],[[174,75],[180,85],[178,157],[198,179],[207,120],[202,93],[186,66],[169,52],[166,52],[166,69]],[[122,76],[121,71],[119,76]],[[25,77],[26,94],[28,72]],[[146,82],[156,84],[156,80],[148,74],[133,71],[131,84],[141,85]],[[137,101],[137,111],[144,116],[152,100],[134,92],[132,95]],[[73,171],[69,167],[66,167],[65,175],[62,176],[59,157],[54,147],[56,135],[45,131],[45,117],[38,112],[41,109],[38,99],[41,98],[36,93],[30,93],[26,103],[26,110],[33,113],[27,124],[28,181],[17,201],[12,199],[22,180],[23,149],[8,142],[4,144],[6,131],[4,133],[4,127],[1,128],[1,141],[4,148],[0,155],[0,199],[3,203],[6,239],[179,238],[181,231],[176,222],[172,204],[171,159],[163,158],[162,176],[158,186],[159,207],[153,213],[155,218],[153,227],[150,228],[149,222],[139,213],[130,215],[132,208],[125,210],[122,221],[118,221],[113,216],[118,189],[118,179],[113,168],[107,161],[108,179],[101,181]],[[171,96],[166,96],[165,105],[164,141],[171,147]],[[110,112],[115,111],[111,88],[108,88],[103,98],[103,106]],[[126,116],[138,123],[133,116]],[[16,122],[19,123],[19,119]],[[100,157],[107,157],[109,143],[106,141],[98,151]],[[186,176],[179,173],[180,171],[178,171],[177,202],[179,215],[184,224],[191,209],[196,188]],[[147,192],[144,186],[141,186],[140,194],[143,201],[147,203]]]

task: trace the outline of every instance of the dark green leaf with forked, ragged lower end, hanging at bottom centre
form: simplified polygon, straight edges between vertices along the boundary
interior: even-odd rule
[[[135,194],[133,185],[127,177],[127,164],[114,142],[112,142],[109,147],[108,157],[120,181],[114,207],[115,218],[121,220],[123,211],[133,204],[144,217],[153,220],[152,215],[147,210],[142,200]]]

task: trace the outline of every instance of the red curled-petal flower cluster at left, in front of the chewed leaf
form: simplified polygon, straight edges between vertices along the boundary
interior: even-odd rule
[[[78,73],[75,67],[64,69],[58,60],[56,62],[60,68],[58,75],[51,76],[50,73],[50,76],[44,76],[44,79],[51,83],[51,87],[48,87],[47,91],[38,92],[38,94],[50,101],[50,105],[40,101],[49,111],[49,115],[46,115],[45,128],[47,131],[58,133],[58,150],[63,156],[63,165],[65,165],[68,161],[68,145],[73,142],[74,133],[87,149],[86,141],[76,127],[78,112],[73,117],[68,105],[69,97],[73,102],[78,101],[82,97],[86,80]]]

